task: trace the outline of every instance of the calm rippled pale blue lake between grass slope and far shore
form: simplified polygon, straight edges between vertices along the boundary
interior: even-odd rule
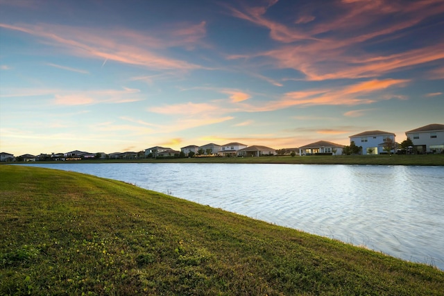
[[[130,182],[444,270],[444,167],[32,165]]]

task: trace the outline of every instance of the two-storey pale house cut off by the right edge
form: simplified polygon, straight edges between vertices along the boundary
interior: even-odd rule
[[[444,124],[433,123],[405,132],[413,142],[416,153],[442,153],[444,151]]]

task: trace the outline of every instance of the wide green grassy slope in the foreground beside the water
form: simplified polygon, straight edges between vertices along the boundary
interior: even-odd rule
[[[114,180],[0,166],[0,295],[443,295],[444,272]]]

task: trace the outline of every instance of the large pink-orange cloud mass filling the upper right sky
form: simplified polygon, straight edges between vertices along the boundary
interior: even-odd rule
[[[366,50],[370,40],[375,42],[378,37],[386,36],[400,38],[402,31],[413,28],[427,17],[443,13],[443,1],[417,1],[409,6],[402,1],[331,1],[325,5],[334,11],[330,17],[319,21],[313,19],[318,6],[307,4],[300,10],[305,14],[296,14],[294,26],[267,18],[269,3],[265,6],[230,8],[235,17],[269,28],[270,37],[284,45],[270,51],[230,55],[228,58],[268,58],[268,64],[273,67],[303,73],[304,80],[379,77],[444,58],[442,38],[436,38],[433,44],[407,51],[398,49],[395,52],[393,47],[385,53]],[[391,21],[387,21],[388,18]],[[304,21],[309,21],[309,26],[303,26],[302,31],[300,24],[305,24]],[[319,37],[321,34],[323,37]],[[291,45],[287,45],[289,43]],[[251,63],[254,67],[254,62]]]

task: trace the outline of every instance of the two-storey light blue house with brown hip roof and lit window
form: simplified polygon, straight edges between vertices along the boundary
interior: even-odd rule
[[[377,155],[386,153],[384,151],[386,139],[391,139],[395,143],[396,135],[393,132],[383,132],[382,130],[369,130],[350,136],[350,143],[355,142],[356,146],[362,146],[363,155]],[[392,149],[392,152],[395,149]]]

